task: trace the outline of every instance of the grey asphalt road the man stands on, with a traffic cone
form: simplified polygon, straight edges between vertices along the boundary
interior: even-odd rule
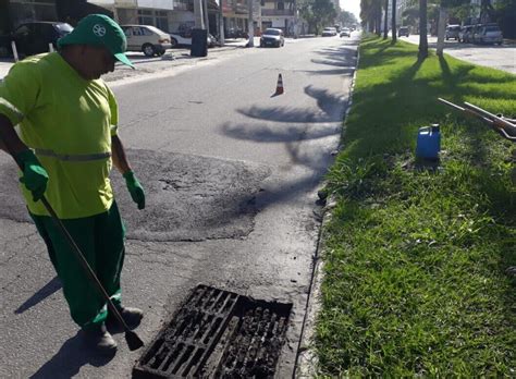
[[[278,377],[292,375],[317,190],[339,144],[356,45],[290,40],[112,82],[120,135],[147,190],[138,211],[112,175],[128,225],[124,303],[145,310],[137,332],[147,343],[196,284],[214,285],[293,304]],[[285,93],[272,96],[280,73]],[[83,349],[7,155],[0,172],[0,377],[130,377],[142,351],[122,334],[112,359]]]

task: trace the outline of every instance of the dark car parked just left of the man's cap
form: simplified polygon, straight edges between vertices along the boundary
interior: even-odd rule
[[[41,21],[20,25],[11,37],[20,54],[33,56],[49,51],[50,44],[56,48],[58,39],[72,30],[66,23]]]

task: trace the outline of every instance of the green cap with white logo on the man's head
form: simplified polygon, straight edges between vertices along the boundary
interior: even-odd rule
[[[114,58],[134,69],[124,54],[127,49],[124,30],[105,14],[89,14],[81,20],[72,33],[58,40],[59,48],[65,45],[105,46]]]

